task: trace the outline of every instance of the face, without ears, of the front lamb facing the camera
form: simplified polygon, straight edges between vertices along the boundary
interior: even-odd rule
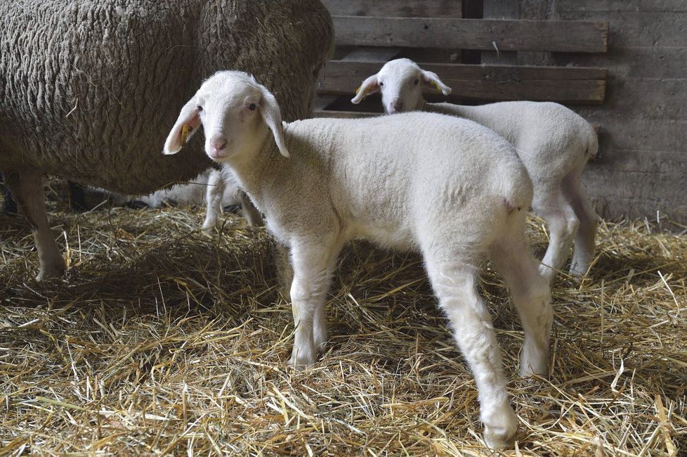
[[[261,89],[242,78],[215,75],[198,93],[199,118],[205,132],[205,153],[226,162],[242,152],[256,150],[267,126],[260,115]]]

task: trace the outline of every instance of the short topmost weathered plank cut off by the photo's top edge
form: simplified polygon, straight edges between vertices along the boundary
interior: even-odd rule
[[[462,18],[457,0],[322,0],[331,15]]]

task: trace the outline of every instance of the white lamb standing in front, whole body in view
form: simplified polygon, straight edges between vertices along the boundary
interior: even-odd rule
[[[343,245],[364,237],[421,252],[475,376],[485,441],[511,445],[518,420],[476,288],[480,261],[493,259],[521,315],[521,375],[547,375],[552,321],[549,285],[525,240],[530,179],[511,146],[474,122],[423,112],[282,127],[274,96],[235,71],[202,84],[164,153],[178,152],[182,130],[195,125],[193,133],[200,122],[207,155],[234,176],[290,249],[296,334],[289,363],[311,365],[327,342],[323,307]]]

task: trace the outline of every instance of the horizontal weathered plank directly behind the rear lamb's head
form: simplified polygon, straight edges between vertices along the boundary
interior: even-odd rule
[[[332,60],[320,75],[320,94],[355,94],[360,82],[381,65]],[[606,94],[606,70],[587,67],[518,67],[426,64],[453,89],[449,101],[534,100],[601,103]]]

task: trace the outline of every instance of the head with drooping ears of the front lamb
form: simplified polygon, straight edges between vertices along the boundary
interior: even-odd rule
[[[256,153],[268,131],[280,153],[289,157],[277,100],[247,73],[221,71],[209,77],[181,108],[162,153],[177,153],[201,124],[205,153],[215,162]]]

